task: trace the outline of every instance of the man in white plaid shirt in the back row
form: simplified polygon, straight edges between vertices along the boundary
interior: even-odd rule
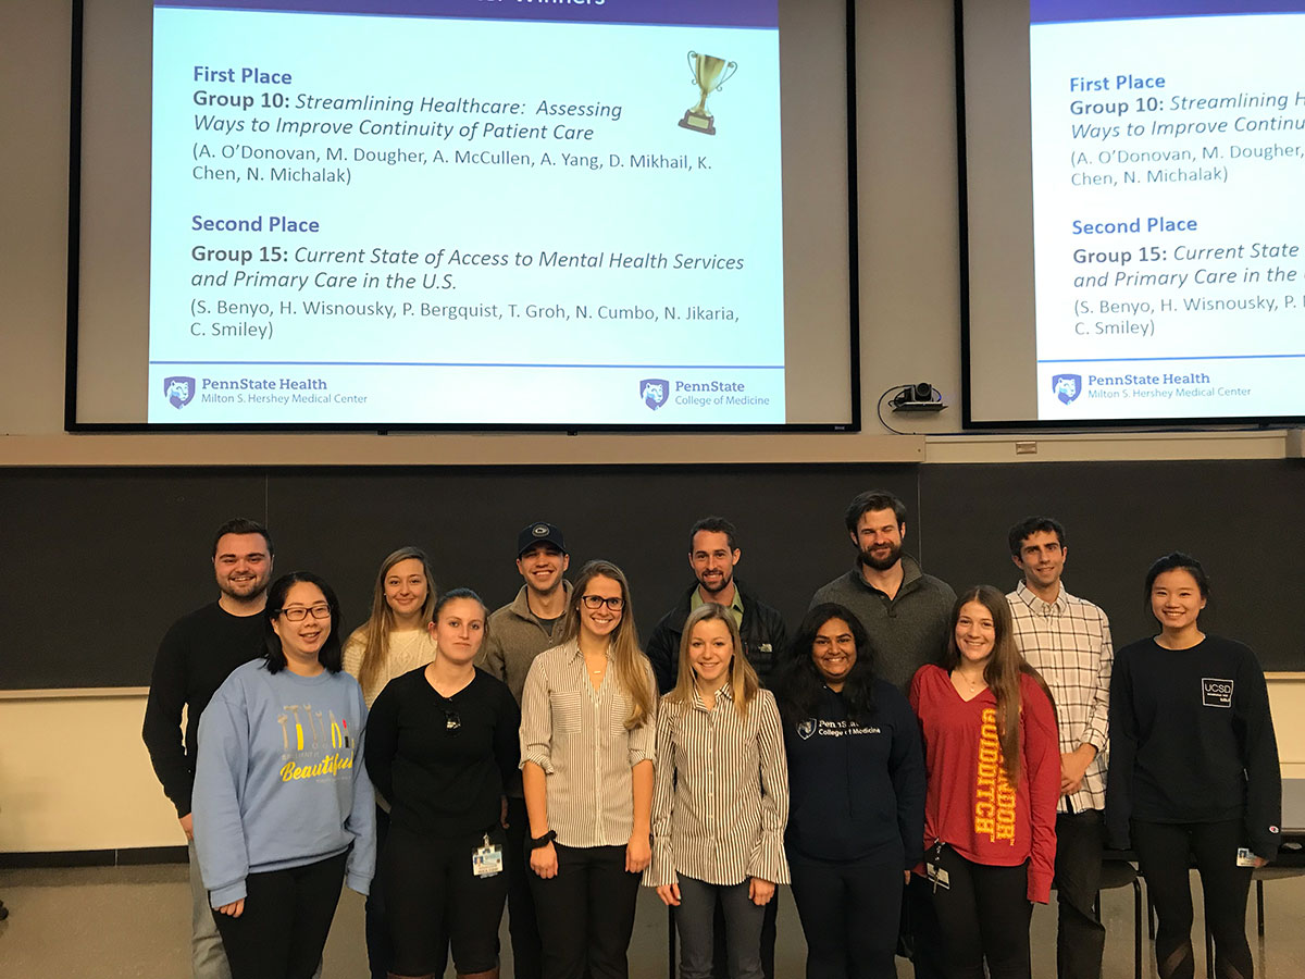
[[[1107,715],[1111,705],[1111,623],[1105,612],[1061,586],[1065,527],[1027,517],[1010,529],[1010,556],[1024,580],[1006,598],[1015,645],[1056,698],[1061,799],[1056,815],[1060,979],[1099,979],[1105,928],[1092,905],[1101,878]]]

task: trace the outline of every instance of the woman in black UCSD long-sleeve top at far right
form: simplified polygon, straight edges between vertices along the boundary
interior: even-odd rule
[[[1210,598],[1201,563],[1151,565],[1146,597],[1160,634],[1118,650],[1111,679],[1111,845],[1138,854],[1155,901],[1156,969],[1190,979],[1193,859],[1215,941],[1215,974],[1250,979],[1250,872],[1278,854],[1282,777],[1268,691],[1255,654],[1198,627]]]

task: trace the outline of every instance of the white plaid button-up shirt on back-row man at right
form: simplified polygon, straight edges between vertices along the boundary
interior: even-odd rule
[[[1109,761],[1111,623],[1105,612],[1061,586],[1054,602],[1044,602],[1026,585],[1006,595],[1014,637],[1024,659],[1043,675],[1056,698],[1062,754],[1091,744],[1096,757],[1077,792],[1061,796],[1057,812],[1105,808],[1105,768]]]

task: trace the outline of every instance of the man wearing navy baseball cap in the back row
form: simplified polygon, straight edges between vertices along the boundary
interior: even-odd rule
[[[518,704],[535,657],[561,641],[572,589],[562,574],[569,565],[562,531],[552,523],[538,521],[517,534],[517,570],[526,583],[489,616],[478,666],[506,683]],[[529,825],[518,779],[508,786],[508,931],[517,979],[540,979],[543,961],[526,867]]]

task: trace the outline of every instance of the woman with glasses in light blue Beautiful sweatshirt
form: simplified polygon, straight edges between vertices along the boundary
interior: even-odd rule
[[[341,884],[367,894],[376,862],[367,707],[330,585],[282,576],[264,615],[266,654],[200,718],[194,846],[232,979],[311,979]]]

